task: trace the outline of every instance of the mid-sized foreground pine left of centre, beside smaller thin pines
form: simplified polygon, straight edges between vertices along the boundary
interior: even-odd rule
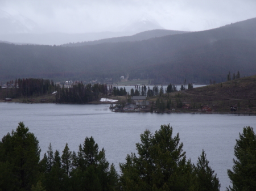
[[[79,146],[77,155],[72,154],[74,169],[71,172],[73,190],[113,190],[117,186],[117,172],[109,169],[105,150],[98,151],[98,144],[93,137],[86,137]],[[111,176],[110,176],[111,175]]]

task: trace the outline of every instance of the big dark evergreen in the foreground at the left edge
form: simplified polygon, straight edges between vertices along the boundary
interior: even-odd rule
[[[39,175],[39,141],[19,122],[0,142],[0,189],[31,190]]]

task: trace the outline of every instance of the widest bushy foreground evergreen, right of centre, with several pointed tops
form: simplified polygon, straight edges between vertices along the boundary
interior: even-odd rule
[[[121,189],[197,190],[193,165],[179,141],[179,134],[172,137],[170,125],[162,125],[154,135],[144,131],[136,144],[138,157],[132,153],[120,164]]]

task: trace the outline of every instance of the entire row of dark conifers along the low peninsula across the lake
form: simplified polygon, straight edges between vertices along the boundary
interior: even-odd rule
[[[167,90],[154,86],[152,90],[150,87],[135,86],[135,91],[132,88],[131,92],[127,92],[125,87],[115,87],[107,84],[83,84],[82,82],[75,82],[68,87],[55,84],[52,80],[26,78],[10,80],[6,83],[7,88],[5,92],[6,97],[10,98],[30,98],[42,95],[55,94],[56,103],[80,103],[85,104],[90,101],[99,100],[102,96],[139,96],[145,95],[152,97],[156,95],[162,96],[164,93],[171,93],[177,91],[174,84],[169,84]],[[2,97],[2,87],[0,86],[0,97]]]

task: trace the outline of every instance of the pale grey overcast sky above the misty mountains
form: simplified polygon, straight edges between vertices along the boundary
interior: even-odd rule
[[[0,0],[46,32],[114,31],[146,15],[166,29],[201,31],[256,17],[255,0]]]

